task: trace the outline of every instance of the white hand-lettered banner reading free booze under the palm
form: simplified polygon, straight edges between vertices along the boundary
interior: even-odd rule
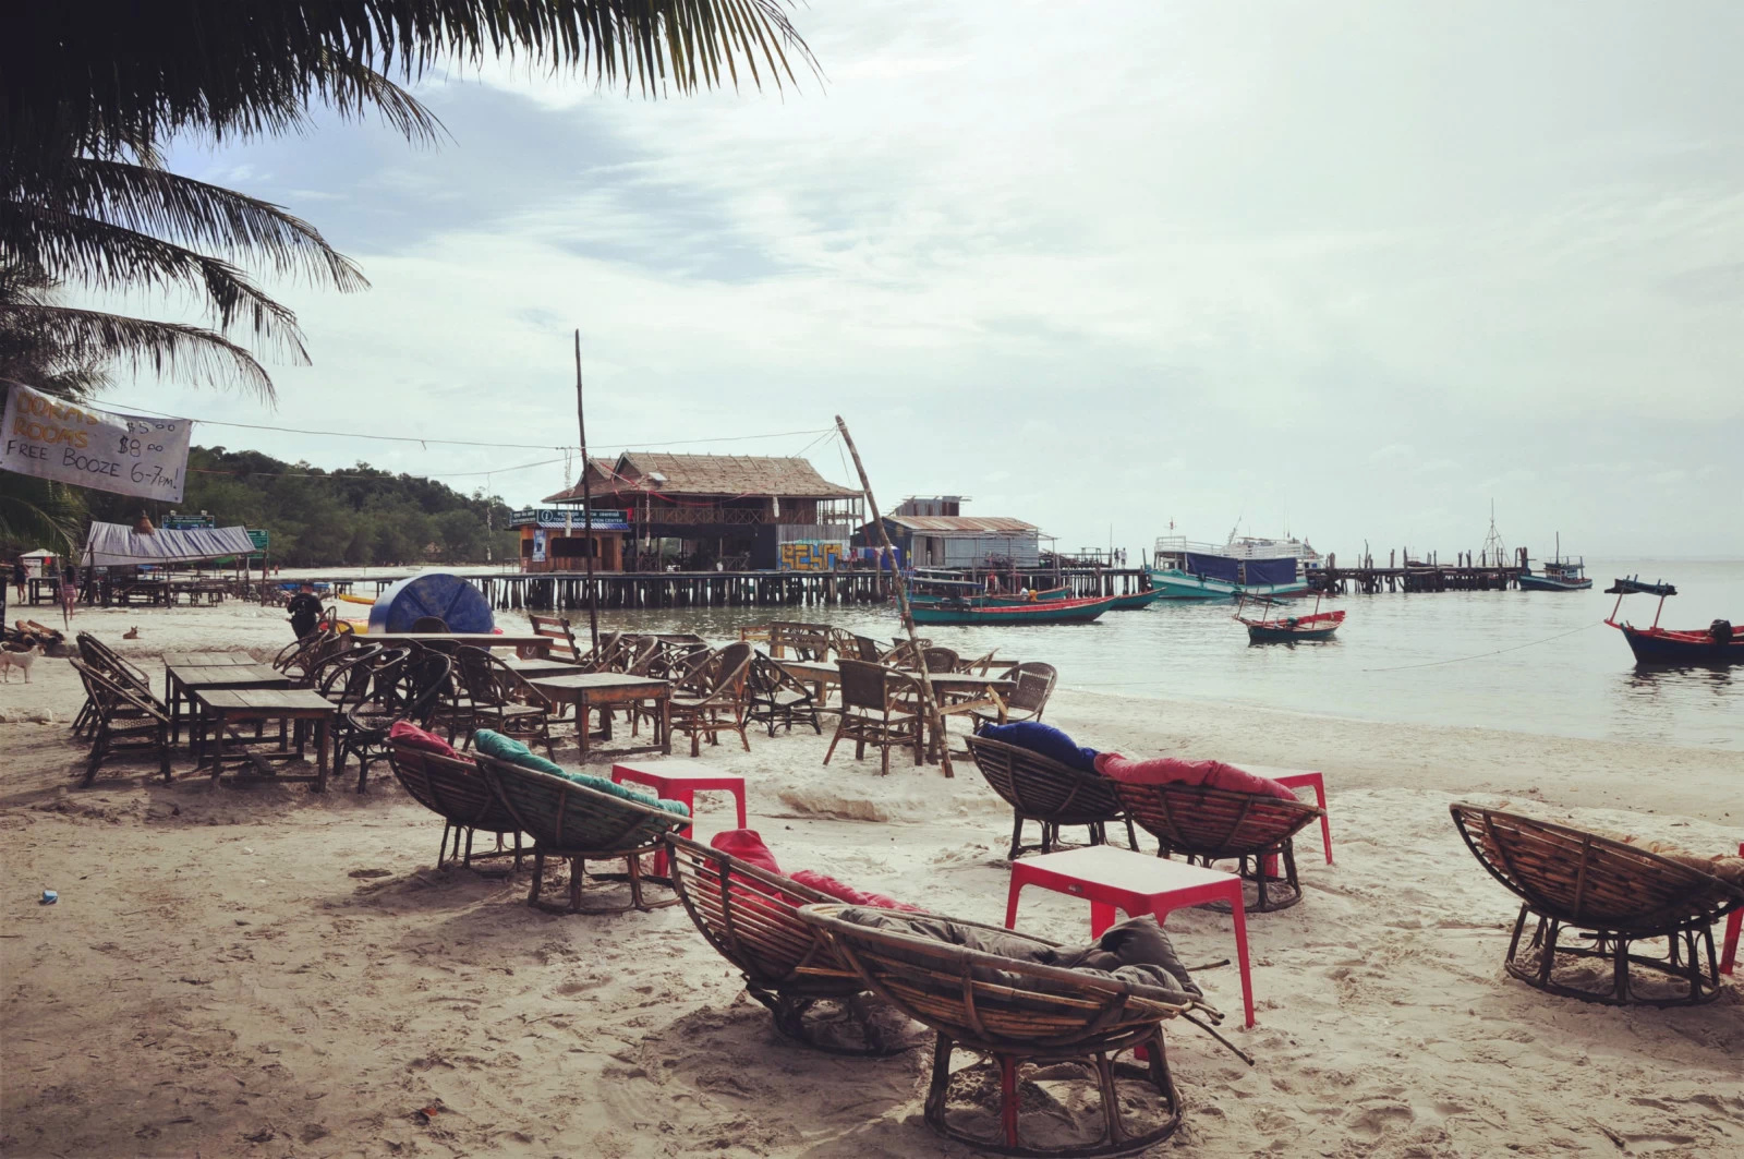
[[[181,503],[190,419],[117,414],[14,386],[0,468],[124,496]]]

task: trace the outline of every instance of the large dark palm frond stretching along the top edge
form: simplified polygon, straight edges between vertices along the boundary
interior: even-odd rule
[[[525,58],[645,96],[795,84],[788,0],[56,0],[0,5],[0,134],[115,157],[183,129],[298,131],[316,105],[429,113],[385,75]],[[377,72],[377,66],[380,72]],[[726,77],[722,77],[726,66]],[[7,140],[0,140],[0,148]]]

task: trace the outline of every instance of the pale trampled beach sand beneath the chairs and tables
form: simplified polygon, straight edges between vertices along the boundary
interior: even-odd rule
[[[235,604],[77,627],[141,667],[288,639],[283,613]],[[680,908],[555,916],[521,904],[525,873],[433,871],[441,824],[385,766],[363,798],[211,789],[187,761],[171,785],[117,765],[78,789],[78,702],[58,660],[0,684],[0,1154],[970,1154],[921,1122],[926,1049],[865,1061],[781,1040]],[[1198,976],[1259,1066],[1172,1028],[1188,1114],[1158,1152],[1744,1154],[1735,984],[1707,1007],[1620,1011],[1509,979],[1516,906],[1446,808],[1505,798],[1735,848],[1744,756],[1078,693],[1048,716],[1128,756],[1327,777],[1338,864],[1305,833],[1306,899],[1249,923],[1259,1025],[1240,1028],[1233,969]],[[750,754],[706,756],[748,777],[785,866],[1003,918],[1010,813],[973,765],[881,778],[851,751],[823,768],[823,749],[753,733]],[[699,834],[727,824],[729,799],[701,798]],[[44,887],[59,904],[37,904]],[[1031,890],[1018,925],[1081,939],[1087,908]],[[1189,964],[1233,950],[1214,913],[1168,930]]]

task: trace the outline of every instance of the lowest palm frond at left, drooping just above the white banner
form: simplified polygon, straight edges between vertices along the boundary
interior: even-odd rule
[[[159,377],[173,374],[201,386],[241,386],[272,398],[272,379],[255,356],[202,326],[61,305],[0,304],[0,328],[37,333],[72,363],[124,361]]]

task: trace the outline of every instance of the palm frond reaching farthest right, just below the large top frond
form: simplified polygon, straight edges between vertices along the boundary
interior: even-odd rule
[[[155,164],[68,157],[52,168],[16,166],[0,175],[0,199],[96,218],[232,260],[258,257],[279,272],[307,272],[340,291],[370,285],[314,225],[281,206]]]

